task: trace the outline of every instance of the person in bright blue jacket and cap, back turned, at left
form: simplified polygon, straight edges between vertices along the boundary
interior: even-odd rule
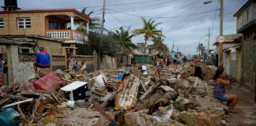
[[[43,46],[40,46],[40,52],[36,54],[36,61],[34,63],[34,70],[37,74],[37,68],[51,68],[51,57],[47,53],[47,50],[43,49]]]

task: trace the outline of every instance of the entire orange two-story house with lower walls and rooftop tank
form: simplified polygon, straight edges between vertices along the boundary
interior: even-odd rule
[[[8,84],[22,83],[33,75],[32,65],[39,46],[51,55],[51,70],[66,69],[68,54],[86,61],[88,72],[95,68],[93,56],[77,56],[76,45],[88,41],[90,18],[76,9],[32,9],[17,7],[17,1],[5,0],[0,11],[0,53],[7,60]],[[85,32],[76,23],[85,22]],[[7,83],[7,82],[5,82]]]

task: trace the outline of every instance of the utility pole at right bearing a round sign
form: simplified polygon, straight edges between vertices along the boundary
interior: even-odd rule
[[[220,0],[220,36],[223,35],[223,0]],[[220,43],[220,61],[219,66],[222,64],[223,58],[223,44]]]

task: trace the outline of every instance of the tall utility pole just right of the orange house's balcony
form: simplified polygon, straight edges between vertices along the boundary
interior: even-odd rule
[[[101,45],[104,37],[105,9],[106,9],[106,0],[104,0],[104,3],[103,3],[103,9],[102,9],[103,12],[102,12],[102,19],[101,19],[101,32],[100,32],[100,44],[99,44],[100,50],[99,50],[99,58],[98,58],[100,64],[101,64]]]

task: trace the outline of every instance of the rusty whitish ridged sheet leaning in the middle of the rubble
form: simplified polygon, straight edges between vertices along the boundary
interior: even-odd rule
[[[140,80],[131,74],[124,83],[125,86],[122,88],[122,91],[115,96],[115,109],[133,109],[137,104]]]

